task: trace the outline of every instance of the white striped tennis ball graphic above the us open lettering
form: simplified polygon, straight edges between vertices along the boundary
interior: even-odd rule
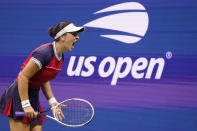
[[[96,15],[106,12],[114,12],[114,14],[98,18],[84,24],[84,26],[115,30],[125,33],[125,35],[102,34],[100,36],[117,40],[126,44],[137,43],[145,36],[148,29],[149,18],[146,9],[140,3],[121,3],[99,10],[94,14]]]

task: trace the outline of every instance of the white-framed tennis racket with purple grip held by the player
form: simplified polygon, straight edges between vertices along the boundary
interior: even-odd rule
[[[54,115],[50,116],[43,114],[44,112],[48,112],[50,110],[55,110],[55,112],[57,110],[61,110],[62,114],[64,115],[64,118],[58,119]],[[40,112],[39,114],[44,115],[52,120],[55,120],[64,126],[80,127],[88,124],[92,120],[94,116],[94,108],[92,104],[87,100],[80,98],[71,98],[62,101],[55,107],[49,108],[48,110]],[[25,113],[16,112],[15,116],[25,116]]]

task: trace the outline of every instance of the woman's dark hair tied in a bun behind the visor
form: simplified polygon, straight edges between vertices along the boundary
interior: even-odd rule
[[[64,27],[66,27],[67,25],[69,25],[71,22],[60,22],[55,28],[54,27],[49,27],[48,29],[48,33],[49,36],[51,36],[52,38],[54,38],[56,36],[56,34],[62,30]],[[55,41],[59,41],[59,38],[57,38]]]

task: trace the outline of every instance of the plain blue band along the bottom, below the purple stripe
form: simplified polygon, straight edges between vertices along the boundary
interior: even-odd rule
[[[43,124],[44,131],[196,131],[197,111],[192,110],[115,110],[96,109],[91,123],[83,127],[62,126],[53,120]],[[1,130],[8,131],[8,118],[1,116]]]

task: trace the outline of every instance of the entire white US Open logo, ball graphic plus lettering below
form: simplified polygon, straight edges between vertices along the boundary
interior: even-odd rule
[[[120,43],[134,44],[146,34],[149,24],[148,14],[143,5],[137,2],[126,2],[113,5],[95,12],[106,13],[86,23],[84,26],[107,29],[109,34],[101,37],[120,41]],[[114,33],[115,32],[115,33]],[[102,32],[103,33],[103,32]],[[172,56],[170,52],[166,56]],[[98,59],[99,58],[99,59]],[[98,65],[98,66],[96,66]],[[117,85],[120,79],[161,79],[165,67],[165,59],[146,57],[112,57],[99,56],[71,56],[67,68],[67,76],[91,77],[111,79],[111,85]]]

